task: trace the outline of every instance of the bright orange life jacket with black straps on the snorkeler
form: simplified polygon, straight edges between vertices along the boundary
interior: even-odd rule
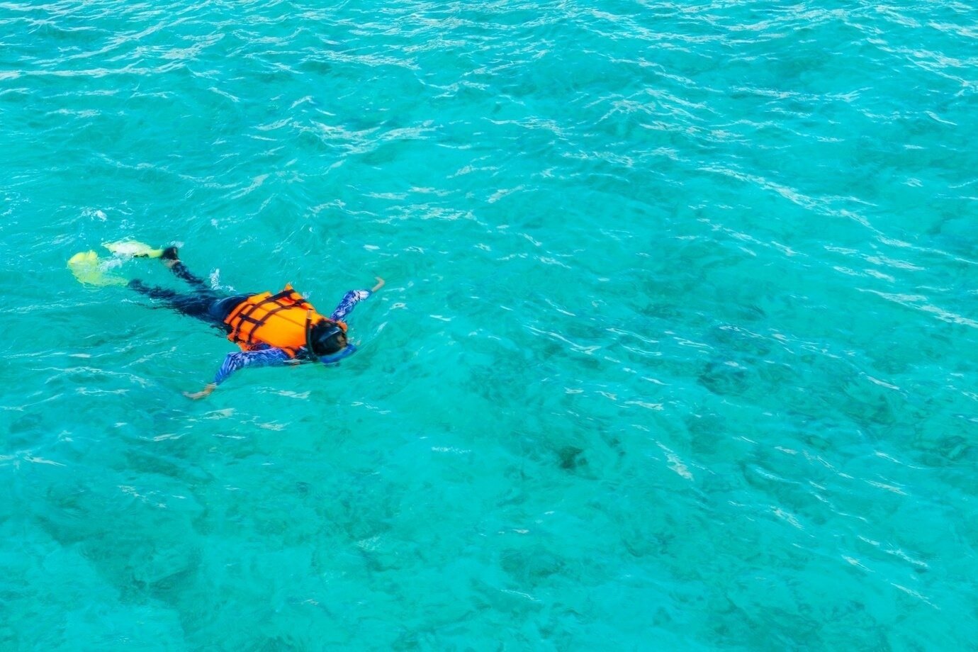
[[[262,292],[252,294],[228,315],[224,323],[230,328],[228,339],[243,351],[250,351],[259,344],[276,346],[294,358],[299,349],[306,346],[306,326],[320,322],[332,322],[316,312],[302,295],[290,284],[278,294]],[[335,322],[346,331],[346,325]]]

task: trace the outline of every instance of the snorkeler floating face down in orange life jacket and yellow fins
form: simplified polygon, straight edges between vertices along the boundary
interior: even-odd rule
[[[332,365],[350,356],[357,347],[348,341],[347,326],[343,320],[357,303],[383,286],[383,279],[377,277],[377,284],[369,290],[349,290],[330,317],[325,317],[289,284],[275,294],[261,292],[221,296],[187,269],[175,246],[154,249],[135,241],[114,242],[106,246],[116,254],[161,259],[178,279],[189,283],[193,291],[181,293],[165,287],[151,287],[138,279],[126,283],[128,287],[152,299],[165,301],[167,306],[183,315],[220,328],[227,333],[228,339],[241,347],[241,351],[227,355],[213,382],[199,392],[184,392],[184,396],[191,399],[208,396],[232,373],[244,367],[297,365],[303,362]],[[98,255],[94,251],[75,254],[68,261],[68,267],[82,283],[125,283],[122,279],[102,273]]]

